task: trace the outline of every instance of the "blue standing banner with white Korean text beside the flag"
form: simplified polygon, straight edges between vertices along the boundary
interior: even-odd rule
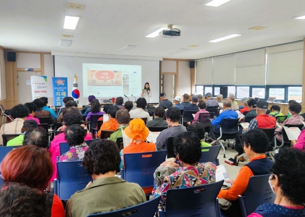
[[[63,99],[68,96],[68,78],[52,78],[53,106],[63,106]]]

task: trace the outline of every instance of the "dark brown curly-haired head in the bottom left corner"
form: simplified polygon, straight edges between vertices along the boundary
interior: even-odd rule
[[[0,190],[0,216],[46,217],[46,195],[19,183]]]

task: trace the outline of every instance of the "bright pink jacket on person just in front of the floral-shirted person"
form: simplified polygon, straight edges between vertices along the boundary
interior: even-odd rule
[[[91,134],[88,133],[85,137],[85,140],[90,140],[90,139],[92,139],[92,136]],[[56,135],[50,144],[49,152],[51,154],[52,163],[54,166],[54,172],[50,182],[53,182],[53,180],[57,178],[56,162],[57,162],[57,156],[60,157],[60,151],[59,151],[60,142],[67,142],[67,140],[65,139],[65,133],[59,133],[58,135]]]

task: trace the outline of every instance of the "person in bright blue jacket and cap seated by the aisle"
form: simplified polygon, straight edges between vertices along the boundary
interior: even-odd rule
[[[231,109],[232,106],[232,100],[231,99],[225,99],[224,100],[224,111],[219,114],[219,116],[216,119],[211,119],[211,125],[219,125],[221,124],[222,120],[224,118],[226,119],[236,119],[238,117],[237,113]],[[215,137],[214,137],[214,136]],[[213,139],[216,139],[220,136],[220,129],[219,126],[217,127],[210,127],[210,137]]]

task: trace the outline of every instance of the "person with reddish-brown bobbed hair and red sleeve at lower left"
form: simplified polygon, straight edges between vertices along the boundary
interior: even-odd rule
[[[6,186],[20,183],[39,190],[41,194],[46,194],[45,216],[65,216],[64,206],[57,195],[44,193],[52,173],[52,161],[47,150],[33,145],[14,149],[5,156],[1,164],[2,179]]]

